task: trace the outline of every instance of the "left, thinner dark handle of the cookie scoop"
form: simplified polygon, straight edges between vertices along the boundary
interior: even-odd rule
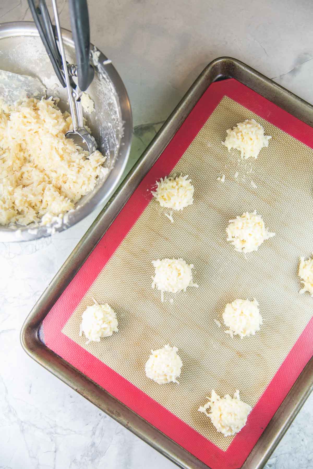
[[[62,75],[62,58],[56,45],[51,18],[45,0],[28,0],[32,17],[37,26],[40,38],[52,63],[56,76],[65,88],[66,83]]]

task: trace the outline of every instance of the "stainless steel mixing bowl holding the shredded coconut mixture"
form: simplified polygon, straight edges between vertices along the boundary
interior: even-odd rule
[[[68,30],[62,30],[67,59],[75,63],[74,43]],[[94,46],[91,44],[91,50]],[[94,101],[94,112],[86,115],[87,125],[92,130],[98,149],[107,156],[105,166],[109,174],[99,179],[95,188],[82,197],[73,212],[69,212],[67,223],[54,227],[0,226],[0,241],[29,241],[49,236],[51,231],[62,231],[75,225],[115,189],[126,166],[132,136],[130,101],[125,86],[112,64],[102,65],[107,57],[100,53],[95,66],[95,78],[87,93]],[[31,22],[3,23],[0,25],[0,69],[39,78],[48,90],[48,96],[60,98],[62,111],[69,110],[66,90],[61,87],[53,72],[46,50]],[[57,86],[55,86],[57,85]]]

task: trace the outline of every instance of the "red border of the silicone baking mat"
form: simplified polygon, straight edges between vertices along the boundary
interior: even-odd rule
[[[61,330],[150,202],[152,196],[147,188],[150,189],[157,179],[172,171],[225,95],[313,148],[313,129],[304,122],[233,78],[212,83],[43,321],[47,347],[212,469],[235,469],[242,466],[313,356],[313,318],[252,409],[247,424],[236,435],[226,452],[70,340]]]

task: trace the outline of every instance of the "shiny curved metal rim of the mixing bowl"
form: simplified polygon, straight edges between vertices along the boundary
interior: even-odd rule
[[[74,41],[72,39],[71,31],[62,28],[62,38],[64,43],[74,48]],[[38,30],[34,22],[31,21],[16,21],[9,23],[0,23],[0,40],[4,38],[11,38],[17,36],[36,36],[39,37]],[[91,50],[96,46],[90,44]],[[96,194],[84,205],[78,206],[75,211],[70,212],[67,223],[56,224],[56,226],[42,226],[38,229],[33,230],[30,225],[25,227],[16,226],[0,226],[0,242],[21,242],[31,241],[42,237],[50,236],[54,232],[61,232],[69,227],[74,226],[76,223],[84,219],[89,215],[99,204],[103,203],[105,199],[108,199],[115,190],[117,184],[120,182],[122,173],[126,167],[128,157],[130,154],[130,145],[132,139],[132,112],[130,107],[130,99],[126,91],[125,85],[122,82],[122,78],[119,76],[117,70],[112,63],[106,64],[105,67],[102,65],[102,61],[107,60],[98,47],[96,49],[100,52],[99,55],[99,67],[106,73],[107,77],[114,85],[117,98],[120,105],[120,118],[123,124],[123,132],[120,138],[119,150],[116,155],[115,165],[108,174],[103,187],[100,188]],[[79,204],[79,202],[78,202]]]

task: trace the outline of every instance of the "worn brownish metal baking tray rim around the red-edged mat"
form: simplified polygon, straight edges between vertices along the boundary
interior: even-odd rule
[[[21,331],[22,346],[34,360],[182,468],[198,469],[207,466],[47,348],[40,340],[40,326],[53,304],[84,264],[207,87],[215,81],[226,78],[237,79],[237,81],[272,101],[283,110],[293,114],[311,127],[313,126],[313,106],[290,93],[290,91],[285,90],[235,59],[224,57],[211,62],[191,86],[137,164],[130,171],[130,174],[77,244],[72,254],[31,310]],[[282,405],[267,425],[244,462],[243,469],[263,467],[312,388],[313,358],[307,363]]]

